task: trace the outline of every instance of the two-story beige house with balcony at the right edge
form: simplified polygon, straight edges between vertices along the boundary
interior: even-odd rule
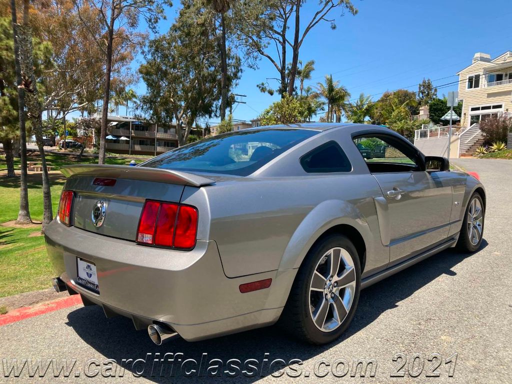
[[[499,113],[512,113],[512,51],[494,59],[475,53],[471,65],[457,74],[463,127]]]

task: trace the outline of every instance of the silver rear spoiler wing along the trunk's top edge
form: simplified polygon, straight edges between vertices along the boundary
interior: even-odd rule
[[[191,185],[201,187],[214,184],[214,180],[202,176],[180,172],[179,170],[148,168],[129,165],[97,165],[78,164],[66,165],[60,169],[66,177],[71,176],[94,176],[111,179],[132,179],[143,181],[154,181],[158,183]]]

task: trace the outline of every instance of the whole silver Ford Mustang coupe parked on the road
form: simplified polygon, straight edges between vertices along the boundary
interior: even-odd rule
[[[45,233],[55,289],[156,344],[274,323],[329,343],[360,289],[482,242],[478,175],[368,124],[258,127],[62,173]]]

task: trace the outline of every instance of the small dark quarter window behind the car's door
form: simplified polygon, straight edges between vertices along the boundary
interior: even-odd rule
[[[301,157],[301,165],[307,173],[350,172],[347,155],[335,141],[329,141],[316,147]]]

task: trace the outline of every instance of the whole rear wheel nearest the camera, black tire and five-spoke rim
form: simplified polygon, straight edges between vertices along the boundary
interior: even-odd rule
[[[312,344],[338,338],[354,316],[361,267],[352,242],[332,235],[318,242],[298,270],[280,323]]]

